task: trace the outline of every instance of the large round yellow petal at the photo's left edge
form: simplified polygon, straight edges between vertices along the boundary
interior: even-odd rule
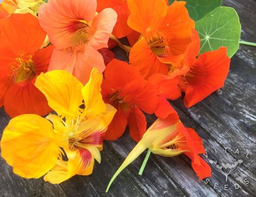
[[[34,114],[11,119],[1,140],[2,157],[25,178],[39,178],[57,161],[60,149],[50,121]]]

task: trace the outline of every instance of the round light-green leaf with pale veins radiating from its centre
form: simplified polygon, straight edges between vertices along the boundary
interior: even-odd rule
[[[214,51],[225,46],[231,58],[239,49],[241,24],[233,8],[216,8],[196,22],[196,29],[200,36],[200,53]]]

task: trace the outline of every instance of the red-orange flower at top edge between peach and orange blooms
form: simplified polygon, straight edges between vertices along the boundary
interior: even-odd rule
[[[97,0],[97,12],[105,8],[113,8],[117,12],[117,23],[113,29],[113,35],[117,38],[123,38],[132,33],[132,29],[127,26],[127,19],[130,15],[126,0]]]

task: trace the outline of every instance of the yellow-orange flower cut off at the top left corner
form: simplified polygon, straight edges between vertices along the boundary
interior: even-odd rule
[[[43,0],[3,0],[0,4],[0,19],[13,13],[30,13],[36,16],[39,7],[44,3]]]

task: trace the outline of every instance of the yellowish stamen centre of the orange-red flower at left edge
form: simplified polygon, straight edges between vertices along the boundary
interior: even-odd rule
[[[10,75],[15,83],[32,79],[35,76],[32,55],[15,58],[10,64]]]

